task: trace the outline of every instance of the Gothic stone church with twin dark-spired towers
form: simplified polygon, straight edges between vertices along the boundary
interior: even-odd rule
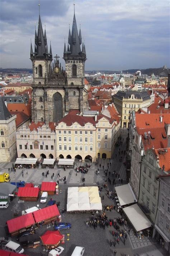
[[[52,63],[52,48],[48,51],[46,30],[43,32],[39,15],[38,33],[35,31],[35,48],[30,47],[33,63],[32,121],[57,122],[71,109],[83,112],[88,108],[88,92],[84,88],[85,45],[81,45],[74,13],[72,33],[69,29],[67,51],[64,46],[66,72],[57,55]]]

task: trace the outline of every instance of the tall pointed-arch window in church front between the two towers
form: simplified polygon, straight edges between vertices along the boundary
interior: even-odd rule
[[[63,102],[60,93],[53,95],[53,122],[59,121],[63,117]]]

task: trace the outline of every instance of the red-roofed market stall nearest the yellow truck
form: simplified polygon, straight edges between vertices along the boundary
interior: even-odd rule
[[[23,187],[18,190],[18,197],[23,201],[38,201],[39,188]]]

